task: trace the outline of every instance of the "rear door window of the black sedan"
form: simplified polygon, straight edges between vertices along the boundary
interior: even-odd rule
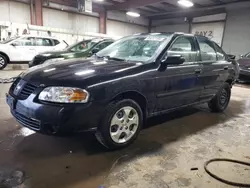
[[[197,37],[197,40],[200,46],[201,60],[216,61],[217,55],[213,43],[205,37]]]

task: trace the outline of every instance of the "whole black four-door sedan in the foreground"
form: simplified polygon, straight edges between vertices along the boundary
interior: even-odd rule
[[[230,61],[206,37],[137,34],[92,58],[34,67],[6,98],[25,127],[45,134],[94,131],[105,147],[121,148],[148,117],[200,103],[224,111],[236,79]]]

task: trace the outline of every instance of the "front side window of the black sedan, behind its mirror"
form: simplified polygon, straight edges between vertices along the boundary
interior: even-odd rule
[[[182,55],[185,58],[185,62],[195,62],[197,58],[197,52],[193,37],[178,37],[168,50],[168,55],[170,54]]]

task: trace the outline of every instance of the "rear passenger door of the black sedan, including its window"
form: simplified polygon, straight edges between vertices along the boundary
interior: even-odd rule
[[[231,63],[226,60],[223,50],[206,37],[197,36],[200,48],[200,64],[202,72],[199,80],[203,86],[201,100],[211,99],[229,76]]]

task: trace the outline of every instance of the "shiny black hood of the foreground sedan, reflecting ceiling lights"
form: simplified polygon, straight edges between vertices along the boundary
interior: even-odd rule
[[[30,68],[21,77],[33,83],[57,86],[79,86],[96,84],[108,79],[126,76],[127,71],[142,63],[113,60],[71,59]]]

